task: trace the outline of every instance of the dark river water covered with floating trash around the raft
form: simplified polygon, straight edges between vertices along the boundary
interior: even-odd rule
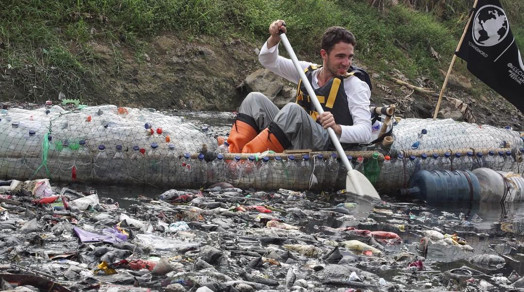
[[[177,115],[216,134],[225,134],[234,118]],[[373,201],[336,190],[257,192],[226,184],[174,187],[178,192],[151,185],[51,185],[74,208],[64,212],[31,201],[27,190],[2,195],[2,275],[36,275],[66,290],[85,291],[524,287],[521,203],[439,205],[385,195]],[[97,197],[92,205],[71,203],[89,196]],[[77,238],[108,228],[128,237]],[[38,290],[37,284],[26,289]],[[14,289],[2,282],[3,290],[9,288]]]

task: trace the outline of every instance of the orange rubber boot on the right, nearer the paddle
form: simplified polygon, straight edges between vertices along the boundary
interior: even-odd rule
[[[276,124],[271,123],[268,128],[261,131],[255,139],[242,148],[242,153],[259,153],[266,150],[281,153],[290,145],[291,143],[284,136],[282,130]]]

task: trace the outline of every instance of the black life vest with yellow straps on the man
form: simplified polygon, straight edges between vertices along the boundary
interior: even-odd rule
[[[312,75],[314,70],[318,70],[322,66],[310,65],[304,70],[305,76],[308,78],[309,84],[312,84]],[[333,114],[335,123],[339,125],[353,126],[353,117],[351,116],[350,108],[347,104],[347,95],[344,89],[344,79],[350,76],[356,76],[360,80],[366,82],[371,90],[371,80],[366,71],[356,66],[351,66],[343,76],[335,76],[331,78],[324,86],[313,89],[316,97],[319,99],[319,103],[324,111],[330,111]],[[298,82],[297,86],[297,100],[296,103],[304,108],[311,118],[319,122],[316,118],[318,111],[316,111],[314,104],[308,95],[305,86],[302,84],[302,80]],[[320,122],[319,122],[320,123]],[[358,144],[342,143],[342,148],[345,150],[356,147]]]

